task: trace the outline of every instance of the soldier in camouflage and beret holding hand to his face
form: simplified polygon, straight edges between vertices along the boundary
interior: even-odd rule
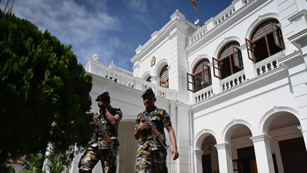
[[[110,96],[107,91],[100,93],[95,101],[98,102],[100,110],[93,117],[101,118],[101,123],[110,136],[114,146],[113,150],[116,153],[119,146],[119,141],[116,137],[118,136],[118,125],[122,119],[122,111],[120,108],[113,108],[110,105]],[[112,156],[111,149],[101,134],[97,135],[96,138],[94,141],[89,141],[88,148],[78,165],[79,172],[91,173],[100,160],[103,173],[116,173],[116,156]]]

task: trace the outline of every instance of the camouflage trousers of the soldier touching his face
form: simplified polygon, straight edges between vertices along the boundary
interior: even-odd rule
[[[118,147],[113,148],[114,152],[118,151]],[[112,157],[111,150],[105,148],[99,151],[97,147],[88,146],[79,162],[80,173],[91,173],[92,169],[101,161],[103,173],[116,173],[116,156]]]

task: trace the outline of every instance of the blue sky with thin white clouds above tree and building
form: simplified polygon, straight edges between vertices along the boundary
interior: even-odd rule
[[[10,8],[13,0],[9,1]],[[197,3],[199,25],[215,17],[232,0]],[[2,0],[3,10],[6,0]],[[179,10],[188,21],[195,21],[189,0],[15,0],[13,13],[28,19],[42,31],[48,29],[65,45],[72,44],[78,61],[85,64],[94,54],[98,61],[133,71],[130,59],[138,45],[145,44]]]

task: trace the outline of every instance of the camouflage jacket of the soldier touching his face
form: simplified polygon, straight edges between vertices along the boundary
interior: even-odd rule
[[[109,112],[114,116],[114,117],[119,117],[119,119],[122,119],[122,111],[120,110],[120,108],[113,108],[111,105],[108,108]],[[105,114],[103,114],[101,116],[101,113],[103,113],[103,111],[99,110],[99,112],[95,113],[93,115],[94,117],[98,117],[101,118],[101,123],[103,125],[103,128],[107,131],[108,135],[110,136],[112,143],[114,145],[114,147],[119,146],[119,141],[117,140],[116,137],[118,137],[118,127],[119,125],[117,125],[116,127],[113,127],[113,125],[111,125],[111,123],[107,120],[107,117]],[[94,129],[96,133],[97,128]],[[109,145],[107,144],[107,142],[104,140],[102,135],[98,136],[98,140],[96,142],[91,142],[89,141],[89,145],[91,145],[92,147],[96,147],[98,145],[99,149],[103,149],[103,148],[109,148]]]

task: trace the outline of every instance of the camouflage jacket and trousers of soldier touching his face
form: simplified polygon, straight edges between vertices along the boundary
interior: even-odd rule
[[[119,117],[122,119],[122,111],[120,108],[113,108],[111,105],[108,108],[109,112],[115,117]],[[101,111],[102,113],[102,111]],[[101,117],[100,113],[97,112],[93,117]],[[103,128],[106,129],[108,135],[111,138],[111,141],[114,145],[114,152],[118,151],[119,141],[117,140],[118,136],[118,125],[113,127],[105,114],[101,117],[101,123],[103,124]],[[98,136],[98,140],[96,142],[92,142],[91,140],[88,143],[88,148],[84,152],[84,155],[81,157],[79,162],[79,172],[80,173],[91,173],[92,169],[95,167],[97,162],[101,160],[101,166],[103,169],[103,173],[116,173],[116,156],[112,157],[111,150],[106,140],[104,140],[102,135]]]

